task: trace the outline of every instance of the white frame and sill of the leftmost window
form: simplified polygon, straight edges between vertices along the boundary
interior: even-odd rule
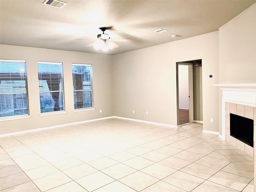
[[[5,95],[5,94],[12,94],[12,95],[14,95],[14,94],[26,94],[26,108],[27,108],[26,109],[26,111],[27,111],[26,114],[15,115],[14,112],[12,112],[12,115],[10,115],[10,116],[2,116],[2,117],[0,117],[0,121],[8,121],[8,120],[17,120],[17,119],[30,118],[31,116],[30,116],[29,100],[28,100],[28,75],[27,75],[27,67],[26,67],[27,63],[26,63],[26,60],[0,59],[0,62],[24,63],[24,68],[23,68],[23,70],[24,70],[24,79],[23,80],[25,80],[25,84],[24,85],[25,85],[26,91],[25,92],[21,91],[21,92],[0,93],[0,95]],[[23,72],[23,70],[22,70],[22,72]],[[8,80],[6,80],[6,81],[8,81]],[[25,98],[25,97],[22,97],[22,99],[23,98]],[[14,111],[14,102],[13,102],[12,109]]]

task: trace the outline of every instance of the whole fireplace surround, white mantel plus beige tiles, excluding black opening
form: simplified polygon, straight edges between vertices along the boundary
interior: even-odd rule
[[[256,141],[256,84],[214,84],[222,90],[222,135],[220,137],[254,157]],[[230,136],[230,113],[253,119],[254,148]]]

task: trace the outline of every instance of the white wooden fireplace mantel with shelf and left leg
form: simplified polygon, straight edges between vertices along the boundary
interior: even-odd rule
[[[225,103],[256,107],[256,83],[213,84],[222,90],[222,136],[225,140]]]

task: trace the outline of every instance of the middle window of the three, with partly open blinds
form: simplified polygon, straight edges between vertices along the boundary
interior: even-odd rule
[[[62,63],[38,62],[41,113],[64,111]]]

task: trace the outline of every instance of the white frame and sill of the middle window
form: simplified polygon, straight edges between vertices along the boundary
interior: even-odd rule
[[[40,91],[40,81],[43,80],[40,78],[40,75],[39,75],[39,64],[53,64],[53,65],[60,65],[61,66],[61,81],[60,81],[60,84],[62,85],[61,89],[60,89],[60,84],[59,84],[59,90],[50,90],[50,88],[48,87],[48,91],[45,91],[45,90],[42,90]],[[52,96],[52,93],[53,92],[59,92],[59,95],[58,97],[60,97],[60,93],[62,93],[62,106],[63,106],[63,110],[56,110],[54,111],[54,106],[53,106],[53,111],[50,111],[50,112],[42,112],[41,110],[41,102],[40,102],[40,116],[49,116],[49,115],[56,115],[56,114],[64,114],[66,113],[66,110],[65,110],[65,99],[64,99],[64,74],[63,74],[63,63],[62,62],[45,62],[45,61],[38,61],[37,62],[37,70],[38,70],[38,88],[39,88],[39,99],[40,99],[40,94],[44,94],[44,93],[50,93],[51,96]],[[54,99],[52,98],[52,100],[54,101]],[[60,108],[60,104],[59,104],[59,108]]]

